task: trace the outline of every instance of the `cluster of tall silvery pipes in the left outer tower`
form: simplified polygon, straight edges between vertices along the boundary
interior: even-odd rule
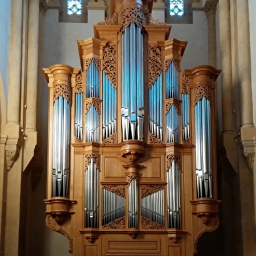
[[[52,197],[69,196],[70,106],[59,96],[54,102]]]

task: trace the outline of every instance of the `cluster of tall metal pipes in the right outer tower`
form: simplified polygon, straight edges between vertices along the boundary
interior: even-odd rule
[[[212,197],[212,150],[210,101],[202,97],[195,105],[197,198]]]

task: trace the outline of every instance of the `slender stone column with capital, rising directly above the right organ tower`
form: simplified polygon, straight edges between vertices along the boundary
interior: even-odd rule
[[[208,64],[216,67],[216,0],[207,1],[204,11],[208,19]]]

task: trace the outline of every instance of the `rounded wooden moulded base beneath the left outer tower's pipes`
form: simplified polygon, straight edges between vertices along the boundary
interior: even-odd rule
[[[69,200],[64,197],[52,197],[52,199],[44,200],[46,204],[46,214],[50,214],[57,222],[62,225],[69,214],[74,214],[72,206],[75,200]]]

